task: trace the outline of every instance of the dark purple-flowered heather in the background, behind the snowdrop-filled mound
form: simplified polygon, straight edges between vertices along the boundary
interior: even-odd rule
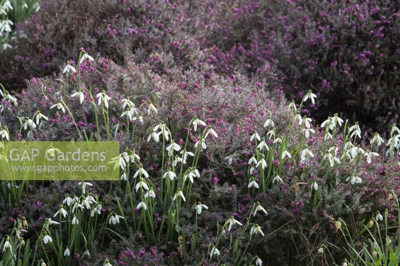
[[[125,51],[135,52],[136,62],[162,51],[183,69],[206,62],[219,73],[251,76],[271,67],[289,99],[308,89],[323,96],[305,114],[322,121],[339,112],[384,131],[399,109],[398,8],[389,0],[50,0],[18,25],[0,82],[20,87],[56,71],[81,47],[118,63]]]

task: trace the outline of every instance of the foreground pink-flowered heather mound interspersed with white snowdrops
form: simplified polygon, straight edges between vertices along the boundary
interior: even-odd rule
[[[315,127],[300,113],[319,97],[288,104],[268,72],[150,57],[162,75],[81,51],[2,91],[2,140],[109,139],[121,152],[119,182],[3,181],[3,264],[396,262],[395,124],[386,140],[338,115]]]

